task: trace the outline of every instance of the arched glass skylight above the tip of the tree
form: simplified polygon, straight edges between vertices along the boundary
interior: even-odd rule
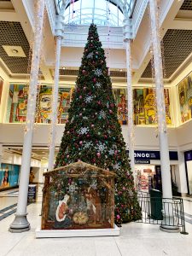
[[[57,13],[60,12],[63,0],[55,0]],[[90,25],[94,22],[97,26],[123,26],[124,1],[110,0],[78,0],[67,1],[64,11],[66,24]],[[131,13],[135,0],[126,1],[126,9]]]

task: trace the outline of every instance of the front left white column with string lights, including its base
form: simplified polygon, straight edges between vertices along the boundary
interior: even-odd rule
[[[37,17],[35,17],[34,43],[32,48],[32,67],[27,102],[26,131],[23,143],[22,164],[20,170],[20,189],[15,220],[10,224],[9,231],[14,233],[30,230],[30,224],[26,218],[26,204],[28,194],[29,172],[32,153],[32,134],[36,110],[36,98],[38,89],[38,69],[43,34],[44,0],[37,1]]]

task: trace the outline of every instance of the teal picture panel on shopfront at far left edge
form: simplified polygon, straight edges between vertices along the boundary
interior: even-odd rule
[[[0,190],[17,186],[19,184],[20,166],[0,165]]]

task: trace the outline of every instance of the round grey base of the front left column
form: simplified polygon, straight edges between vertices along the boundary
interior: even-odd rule
[[[10,224],[9,232],[21,233],[31,229],[30,224],[26,218],[26,214],[15,214],[15,220]]]

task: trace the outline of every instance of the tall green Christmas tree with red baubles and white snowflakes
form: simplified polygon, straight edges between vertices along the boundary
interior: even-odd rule
[[[137,193],[117,118],[106,57],[91,24],[55,167],[82,160],[117,174],[115,223],[141,217]]]

